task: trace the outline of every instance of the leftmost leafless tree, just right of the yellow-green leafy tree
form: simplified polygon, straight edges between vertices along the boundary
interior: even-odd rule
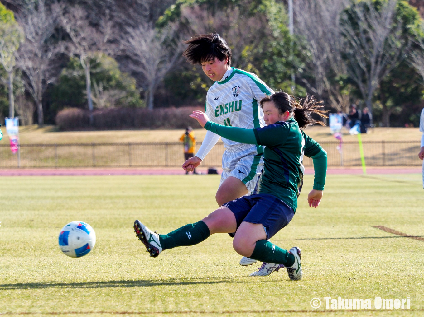
[[[24,74],[25,88],[36,103],[38,124],[44,124],[42,96],[47,85],[55,79],[53,58],[58,52],[51,41],[61,6],[47,7],[45,0],[31,2],[18,16],[18,22],[25,32],[25,42],[17,51],[17,66]]]

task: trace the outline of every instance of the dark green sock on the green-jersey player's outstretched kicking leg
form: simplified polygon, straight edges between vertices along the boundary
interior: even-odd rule
[[[195,245],[209,238],[208,226],[203,221],[189,223],[168,234],[159,234],[162,249],[172,249],[183,245]]]

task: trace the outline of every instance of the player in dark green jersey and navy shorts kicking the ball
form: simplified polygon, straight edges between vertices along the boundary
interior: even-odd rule
[[[202,127],[229,140],[266,146],[264,167],[254,193],[223,204],[197,223],[190,223],[168,234],[156,234],[140,221],[134,222],[139,240],[151,256],[163,250],[183,245],[195,245],[214,233],[229,233],[233,248],[243,256],[261,262],[278,263],[287,269],[289,278],[302,277],[301,250],[282,249],[268,239],[287,226],[296,212],[297,198],[303,185],[303,156],[312,157],[315,179],[308,194],[310,207],[321,202],[327,154],[321,146],[300,128],[308,124],[323,124],[311,118],[312,113],[326,117],[315,99],[303,99],[302,104],[283,92],[266,96],[260,102],[266,127],[243,129],[209,121],[205,113],[195,111],[192,118]]]

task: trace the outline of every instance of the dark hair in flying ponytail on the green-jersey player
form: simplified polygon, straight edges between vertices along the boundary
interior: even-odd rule
[[[312,113],[316,113],[323,118],[328,118],[326,113],[328,113],[329,110],[321,110],[324,105],[322,105],[322,101],[317,102],[314,96],[306,95],[305,98],[297,100],[292,95],[279,91],[271,96],[262,98],[260,102],[261,107],[263,108],[264,102],[268,101],[274,104],[279,114],[288,111],[290,116],[293,115],[300,128],[305,128],[310,124],[321,124],[325,126],[324,122],[312,119]]]

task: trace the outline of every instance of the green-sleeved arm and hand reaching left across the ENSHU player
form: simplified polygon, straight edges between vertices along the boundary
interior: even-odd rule
[[[247,144],[256,144],[256,137],[253,129],[243,129],[237,127],[226,127],[209,121],[209,118],[202,111],[193,111],[190,117],[196,119],[206,130],[214,132],[223,138]]]

